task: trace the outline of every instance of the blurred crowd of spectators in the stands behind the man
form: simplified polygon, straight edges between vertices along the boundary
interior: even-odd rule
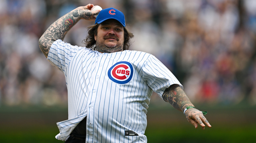
[[[0,0],[0,105],[66,105],[64,75],[38,40],[55,20],[89,3],[114,7],[134,33],[130,50],[160,59],[193,103],[256,104],[255,0]],[[84,46],[91,21],[64,41]]]

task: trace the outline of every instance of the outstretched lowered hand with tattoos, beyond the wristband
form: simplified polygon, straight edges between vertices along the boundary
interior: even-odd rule
[[[186,116],[188,122],[190,122],[192,125],[194,125],[195,128],[198,127],[198,124],[202,126],[203,130],[204,130],[205,125],[207,125],[208,127],[211,127],[210,123],[203,116],[203,113],[196,108],[187,109],[185,112],[185,116]]]

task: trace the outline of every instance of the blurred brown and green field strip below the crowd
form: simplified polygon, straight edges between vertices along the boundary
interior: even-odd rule
[[[145,135],[148,143],[252,143],[256,141],[256,107],[204,107],[211,128],[195,129],[173,107],[149,106]],[[57,121],[67,119],[66,108],[0,107],[1,143],[60,143]]]

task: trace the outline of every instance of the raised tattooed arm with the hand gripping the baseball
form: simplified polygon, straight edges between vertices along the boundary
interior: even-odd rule
[[[95,21],[93,15],[97,15],[99,11],[91,11],[93,4],[84,7],[78,7],[67,13],[66,15],[55,21],[39,39],[39,47],[43,54],[47,57],[51,45],[54,41],[63,40],[67,32],[80,20]]]

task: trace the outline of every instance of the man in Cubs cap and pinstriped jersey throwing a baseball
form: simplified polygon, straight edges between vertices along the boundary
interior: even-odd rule
[[[198,124],[203,129],[211,127],[156,57],[128,50],[133,34],[125,27],[123,13],[115,8],[91,11],[93,6],[78,7],[59,18],[39,40],[47,60],[64,73],[68,88],[69,116],[57,123],[60,133],[56,138],[147,142],[146,113],[153,91],[183,111],[195,128]],[[62,41],[80,19],[95,21],[84,40],[87,48]]]

